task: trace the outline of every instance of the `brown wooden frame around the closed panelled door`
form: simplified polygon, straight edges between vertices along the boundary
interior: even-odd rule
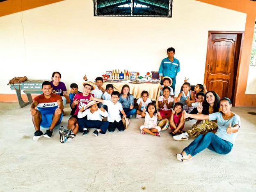
[[[207,41],[207,50],[206,50],[206,64],[205,64],[205,71],[204,71],[204,79],[203,83],[206,84],[206,76],[207,76],[207,69],[208,69],[208,59],[210,58],[208,50],[210,50],[210,36],[213,33],[218,33],[218,34],[240,34],[241,35],[241,44],[240,44],[240,52],[239,52],[239,58],[238,58],[238,67],[236,71],[236,78],[235,81],[235,89],[234,89],[234,96],[233,96],[233,102],[232,105],[235,106],[235,97],[236,97],[236,92],[237,92],[237,86],[238,86],[238,76],[239,76],[239,71],[240,71],[240,63],[241,63],[241,56],[242,56],[242,46],[243,46],[243,41],[244,41],[244,31],[208,31],[208,41]],[[207,88],[207,87],[206,87]]]

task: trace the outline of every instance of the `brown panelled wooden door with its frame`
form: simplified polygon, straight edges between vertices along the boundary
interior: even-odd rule
[[[209,31],[204,83],[220,98],[235,101],[244,32]],[[242,78],[242,77],[241,77]],[[235,105],[235,103],[233,103]]]

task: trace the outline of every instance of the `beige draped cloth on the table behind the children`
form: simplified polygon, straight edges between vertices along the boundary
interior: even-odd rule
[[[123,85],[127,84],[130,87],[130,94],[133,95],[134,98],[138,99],[141,97],[142,91],[148,91],[149,92],[149,98],[152,101],[156,101],[155,105],[158,107],[158,97],[160,96],[160,90],[161,85],[160,83],[155,82],[143,82],[143,83],[132,83],[132,81],[119,81],[119,82],[113,82],[113,81],[105,81],[103,82],[103,88],[106,88],[107,84],[112,84],[114,89],[119,91],[121,93]]]

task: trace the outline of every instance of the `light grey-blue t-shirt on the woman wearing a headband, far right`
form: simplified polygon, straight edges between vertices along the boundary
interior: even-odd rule
[[[209,120],[210,121],[217,120],[218,130],[215,133],[215,135],[217,135],[219,138],[225,141],[231,142],[232,144],[235,143],[235,137],[238,135],[238,132],[228,134],[226,133],[226,129],[228,128],[230,123],[232,127],[234,125],[239,125],[239,127],[241,126],[241,120],[238,115],[235,114],[230,119],[225,120],[223,119],[221,112],[216,112],[216,113],[209,114]]]

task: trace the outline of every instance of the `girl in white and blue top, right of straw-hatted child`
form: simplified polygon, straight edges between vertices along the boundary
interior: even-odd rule
[[[182,90],[177,97],[177,102],[182,103],[184,105],[183,110],[185,110],[187,113],[190,113],[194,107],[189,107],[187,105],[188,102],[190,103],[194,103],[194,94],[191,94],[190,91],[190,83],[189,82],[185,82],[182,85]]]

